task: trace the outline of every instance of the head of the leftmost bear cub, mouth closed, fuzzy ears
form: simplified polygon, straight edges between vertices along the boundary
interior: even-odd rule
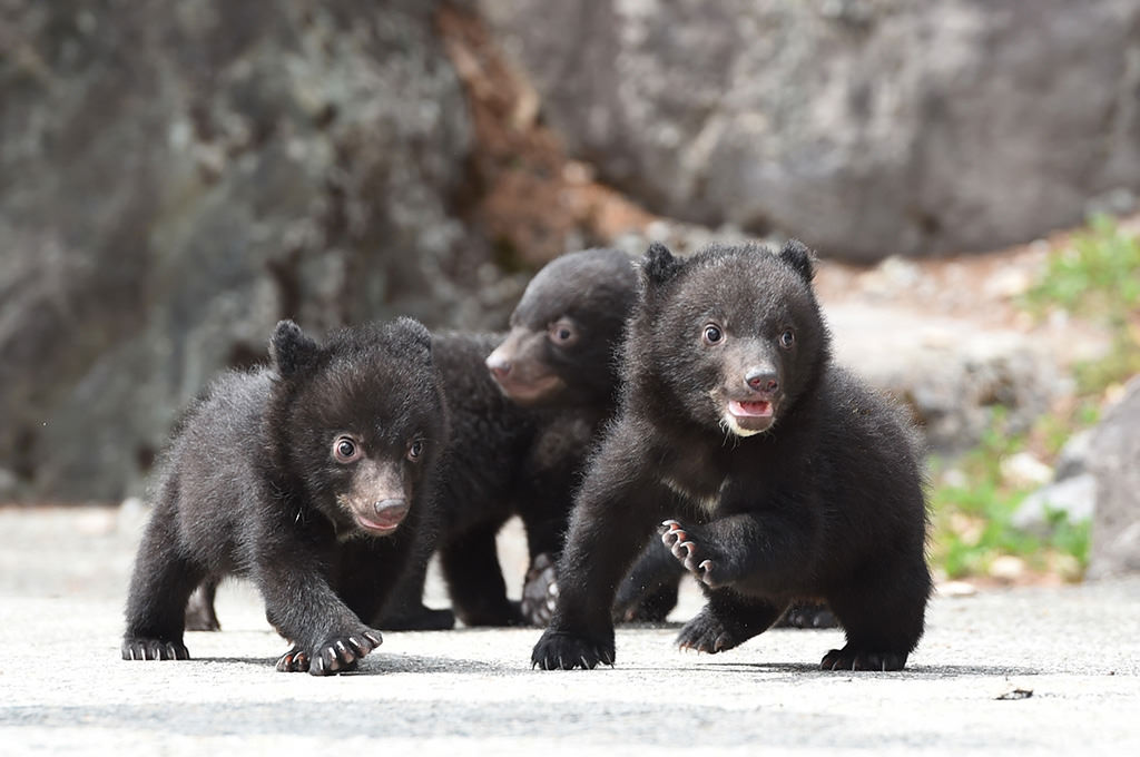
[[[393,534],[446,442],[431,334],[399,318],[319,345],[283,320],[270,356],[267,432],[280,478],[302,487],[342,537]]]

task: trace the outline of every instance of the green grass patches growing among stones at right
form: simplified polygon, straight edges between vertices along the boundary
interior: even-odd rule
[[[1044,536],[1013,527],[1018,505],[1037,487],[1010,480],[1002,461],[1031,447],[1051,459],[1073,433],[1097,422],[1108,388],[1140,374],[1140,237],[1109,217],[1093,218],[1068,249],[1051,255],[1021,304],[1037,317],[1064,310],[1107,328],[1112,349],[1074,366],[1077,398],[1070,409],[1018,436],[1008,432],[999,408],[977,448],[952,465],[931,461],[933,556],[951,578],[985,575],[1001,555],[1072,579],[1088,564],[1088,521],[1072,523],[1064,512],[1050,511]]]

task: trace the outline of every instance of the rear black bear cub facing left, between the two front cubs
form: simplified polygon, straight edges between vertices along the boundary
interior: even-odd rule
[[[537,421],[529,458],[540,474],[529,486],[531,502],[523,510],[538,508],[544,521],[537,538],[529,539],[531,562],[522,593],[522,613],[534,625],[551,620],[557,592],[554,565],[573,491],[617,408],[617,351],[636,299],[629,255],[608,247],[568,253],[527,285],[511,314],[510,333],[487,357],[503,393]],[[531,526],[528,534],[535,530]],[[630,604],[641,609],[648,601],[638,595]]]

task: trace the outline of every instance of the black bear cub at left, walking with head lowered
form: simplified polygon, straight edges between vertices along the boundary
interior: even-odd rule
[[[283,320],[270,355],[218,380],[166,453],[123,659],[187,659],[187,597],[229,573],[256,583],[293,644],[278,670],[350,670],[381,643],[361,618],[413,553],[447,438],[431,335],[400,318],[321,347]]]

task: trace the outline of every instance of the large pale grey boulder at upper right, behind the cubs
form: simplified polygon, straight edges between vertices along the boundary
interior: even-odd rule
[[[992,250],[1140,189],[1135,0],[479,0],[649,210],[824,254]]]

